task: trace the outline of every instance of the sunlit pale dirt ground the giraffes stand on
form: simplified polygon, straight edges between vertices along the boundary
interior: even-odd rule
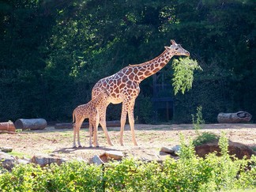
[[[145,159],[159,156],[160,148],[179,145],[179,134],[187,139],[195,137],[191,124],[180,125],[135,125],[138,146],[134,146],[130,135],[130,126],[126,125],[124,145],[119,145],[119,127],[108,127],[108,133],[115,146],[107,145],[103,130],[99,127],[98,139],[100,148],[88,148],[88,129],[81,130],[83,147],[73,149],[73,130],[55,130],[47,126],[44,130],[22,131],[17,134],[0,134],[0,146],[12,147],[13,156],[51,155],[67,159],[83,159],[89,161],[92,156],[105,151],[122,151]],[[201,131],[220,134],[227,133],[228,138],[256,148],[256,124],[206,124]]]

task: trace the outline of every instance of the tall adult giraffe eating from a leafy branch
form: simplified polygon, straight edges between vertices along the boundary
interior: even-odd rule
[[[107,133],[106,127],[106,110],[108,104],[122,103],[120,144],[123,145],[122,137],[128,112],[132,139],[134,145],[137,145],[134,134],[134,104],[140,92],[139,85],[145,78],[161,70],[174,55],[189,56],[190,53],[183,49],[180,44],[175,43],[175,40],[171,40],[171,46],[165,47],[165,51],[158,57],[153,58],[149,62],[126,66],[122,70],[119,70],[118,73],[105,77],[94,85],[92,88],[92,99],[96,98],[103,88],[107,89],[109,94],[107,102],[104,103],[103,107],[101,107],[103,110],[99,111],[100,125],[104,130],[104,134],[107,137],[107,143],[109,145],[113,144]]]

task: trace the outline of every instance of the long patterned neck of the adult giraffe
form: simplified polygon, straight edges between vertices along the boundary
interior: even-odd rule
[[[173,55],[171,51],[165,50],[161,55],[153,58],[149,62],[143,62],[137,65],[130,65],[135,73],[134,81],[140,83],[145,78],[151,76],[152,74],[160,71],[166,64],[171,60]]]

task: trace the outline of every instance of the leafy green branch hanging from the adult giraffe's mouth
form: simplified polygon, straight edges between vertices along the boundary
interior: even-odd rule
[[[201,66],[198,65],[197,60],[188,57],[174,59],[171,66],[174,70],[172,86],[175,95],[179,91],[183,94],[186,90],[189,91],[190,88],[192,88],[194,81],[194,70],[202,70]]]

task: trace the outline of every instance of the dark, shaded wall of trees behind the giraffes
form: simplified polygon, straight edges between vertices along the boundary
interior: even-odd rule
[[[191,122],[197,106],[205,122],[219,112],[256,115],[254,0],[0,2],[0,120],[42,117],[71,121],[92,86],[128,64],[155,58],[174,39],[197,59],[193,88],[175,97],[175,122]],[[171,65],[162,71],[171,70]],[[171,76],[165,81],[171,84]],[[139,122],[152,98],[141,83]],[[120,105],[107,119],[119,119]]]

